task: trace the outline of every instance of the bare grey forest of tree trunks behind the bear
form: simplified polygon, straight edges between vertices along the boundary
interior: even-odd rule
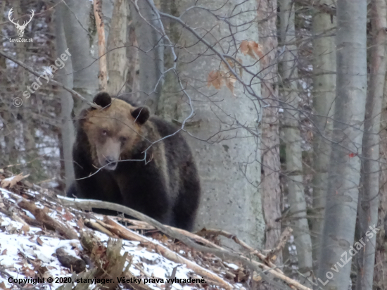
[[[0,168],[65,194],[78,94],[104,90],[185,132],[203,184],[197,229],[269,251],[291,227],[275,256],[286,275],[387,289],[386,5],[1,0]],[[10,40],[17,23],[31,42]],[[60,84],[39,84],[44,72]]]

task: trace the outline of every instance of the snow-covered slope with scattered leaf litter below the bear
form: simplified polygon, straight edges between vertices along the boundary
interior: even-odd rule
[[[25,189],[25,187],[18,190],[0,187],[0,288],[12,289],[13,286],[16,286],[14,284],[18,283],[23,287],[32,286],[34,282],[42,282],[44,279],[44,283],[37,284],[44,286],[46,289],[50,289],[50,287],[56,289],[65,281],[61,278],[74,277],[71,270],[59,262],[56,257],[56,250],[64,248],[70,256],[84,258],[84,248],[79,239],[65,239],[62,234],[52,229],[46,229],[45,226],[34,227],[28,225],[28,222],[31,224],[36,219],[28,210],[23,210],[17,205],[20,198],[26,198],[28,201],[33,202],[37,208],[43,209],[53,220],[74,229],[78,236],[82,232],[80,215],[56,205],[47,192],[31,191]],[[99,215],[93,215],[93,217],[96,220],[101,218]],[[92,231],[94,237],[106,246],[109,239],[107,234],[93,229],[87,230]],[[140,229],[138,232],[144,231]],[[197,263],[198,267],[207,268],[206,270],[213,275],[224,279],[224,283],[232,284],[232,289],[244,289],[241,284],[234,283],[232,279],[226,278],[227,275],[235,277],[230,273],[238,272],[239,266],[232,263],[220,263],[219,259],[211,255],[197,255],[190,248],[175,244],[172,240],[156,231],[154,236],[160,239],[144,238],[165,248],[177,251],[175,253],[177,256]],[[129,272],[133,277],[141,278],[143,282],[146,282],[145,284],[149,289],[166,289],[165,282],[171,277],[175,267],[177,270],[172,277],[180,283],[173,283],[170,289],[208,289],[208,286],[212,286],[210,289],[225,289],[219,283],[211,282],[207,277],[197,275],[194,270],[189,269],[186,265],[165,258],[161,253],[156,252],[155,248],[148,247],[139,241],[122,241],[121,254],[123,255],[125,252],[132,259]],[[128,263],[129,261],[126,264]],[[29,278],[30,280],[28,280]],[[40,280],[37,280],[37,278],[40,278]],[[117,280],[122,276],[112,278]],[[190,282],[189,278],[196,278],[203,283],[187,283]],[[52,282],[49,283],[48,281],[51,281],[51,279]],[[67,280],[67,282],[70,281],[72,287],[76,286],[76,282],[72,283],[72,280]],[[95,286],[95,284],[91,284],[89,289],[94,289]],[[124,284],[122,289],[132,288]]]

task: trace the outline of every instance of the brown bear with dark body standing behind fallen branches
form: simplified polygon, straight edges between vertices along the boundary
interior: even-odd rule
[[[75,182],[67,195],[119,203],[191,230],[201,186],[182,134],[147,107],[107,93],[94,103],[102,109],[87,108],[77,121]]]

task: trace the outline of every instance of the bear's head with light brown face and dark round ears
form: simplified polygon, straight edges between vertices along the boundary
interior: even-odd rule
[[[87,135],[94,165],[115,170],[122,153],[128,156],[143,138],[141,128],[149,118],[149,109],[112,99],[105,92],[97,94],[93,102],[102,108],[82,111],[80,125]]]

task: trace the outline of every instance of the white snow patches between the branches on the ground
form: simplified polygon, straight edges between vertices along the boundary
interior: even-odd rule
[[[31,190],[27,191],[27,194],[34,196],[41,195],[39,192]],[[11,191],[0,188],[0,203],[2,200],[1,198],[11,202],[13,201],[13,198],[19,198],[19,196],[13,194]],[[53,201],[48,201],[42,196],[39,198],[46,202],[53,203]],[[37,202],[35,204],[37,207],[43,208],[42,203]],[[65,219],[64,215],[67,213],[66,210],[61,209],[61,207],[58,206],[54,208],[54,210],[49,212],[51,217],[58,220],[58,222],[77,228],[77,222],[75,222],[75,220],[68,221]],[[29,217],[34,218],[27,210],[23,211]],[[98,216],[96,216],[96,218],[98,218]],[[108,235],[97,231],[94,231],[94,236],[104,245],[106,245],[109,239]],[[146,239],[151,238],[148,237]],[[154,241],[163,245],[160,241]],[[80,253],[83,251],[82,245],[77,239],[63,239],[63,237],[60,237],[54,232],[43,231],[38,227],[26,229],[26,226],[23,227],[21,222],[16,222],[7,215],[4,215],[4,213],[0,213],[0,286],[6,286],[7,288],[12,286],[12,284],[8,282],[8,277],[4,275],[4,272],[17,279],[31,278],[37,273],[37,265],[39,267],[45,267],[46,272],[44,273],[44,277],[52,277],[54,282],[56,277],[71,277],[70,270],[63,267],[56,258],[56,249],[61,247],[65,248],[65,251],[68,254],[78,258],[80,258]],[[141,277],[142,279],[162,278],[164,279],[164,282],[166,282],[166,279],[170,278],[170,275],[172,275],[174,268],[177,267],[175,275],[177,279],[188,279],[189,277],[202,278],[189,270],[186,265],[172,262],[161,256],[155,250],[146,248],[146,246],[138,241],[122,241],[121,254],[123,255],[125,252],[127,252],[129,256],[132,256],[132,263],[129,267],[129,271],[134,277]],[[179,254],[185,254],[185,251],[180,250]],[[191,256],[191,253],[188,252],[187,256]],[[129,262],[127,262],[127,264],[128,263]],[[234,264],[229,263],[227,265],[234,270],[238,269],[238,266]],[[113,279],[116,279],[116,277],[113,277]],[[56,284],[54,282],[42,285],[44,286],[42,289],[57,289],[61,286],[61,284]],[[147,285],[151,287],[151,289],[165,289],[165,284],[161,283],[148,283]],[[244,289],[241,284],[234,284],[233,286],[234,289]],[[94,286],[89,287],[89,289],[93,288]],[[122,286],[122,289],[125,289],[125,287]],[[194,290],[204,288],[199,288],[198,284],[191,286],[174,283],[172,284],[172,289]],[[212,286],[212,289],[222,288]]]

